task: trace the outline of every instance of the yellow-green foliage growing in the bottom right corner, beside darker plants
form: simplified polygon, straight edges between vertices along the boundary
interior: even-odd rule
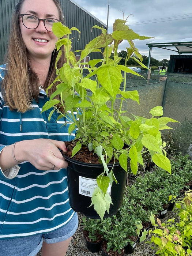
[[[179,222],[175,219],[169,219],[166,223],[161,223],[157,219],[155,230],[150,230],[149,234],[153,234],[150,243],[154,245],[152,248],[156,250],[160,256],[190,256],[192,255],[192,193],[185,192],[184,199],[176,203],[176,207],[180,209],[178,214]]]

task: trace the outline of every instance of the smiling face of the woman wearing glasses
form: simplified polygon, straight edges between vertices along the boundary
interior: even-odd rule
[[[52,0],[25,0],[20,14],[32,14],[39,19],[59,19],[59,12]],[[46,30],[42,20],[36,29],[27,29],[20,17],[20,30],[30,59],[51,58],[57,38],[52,32]]]

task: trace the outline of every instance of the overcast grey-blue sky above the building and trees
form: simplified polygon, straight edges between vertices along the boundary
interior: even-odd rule
[[[86,9],[96,18],[107,24],[109,4],[109,30],[115,19],[123,19],[129,14],[127,25],[139,35],[154,37],[170,42],[184,38],[192,38],[192,0],[75,0],[77,4]],[[152,23],[153,22],[153,23]],[[133,25],[139,23],[139,25]],[[131,25],[132,24],[132,25]],[[148,56],[149,48],[146,43],[154,40],[135,40],[139,52]],[[118,51],[125,50],[126,42]],[[175,48],[172,48],[175,50]],[[151,57],[162,60],[168,59],[170,54],[176,52],[153,48]]]

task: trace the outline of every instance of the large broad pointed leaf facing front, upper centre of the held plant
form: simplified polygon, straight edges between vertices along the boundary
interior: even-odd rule
[[[118,89],[122,82],[122,75],[120,69],[104,64],[97,71],[99,83],[110,93],[113,100],[116,98]]]

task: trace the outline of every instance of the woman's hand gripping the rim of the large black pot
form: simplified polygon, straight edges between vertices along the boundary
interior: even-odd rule
[[[15,145],[15,158],[29,161],[39,170],[58,170],[68,166],[60,150],[67,152],[65,143],[58,140],[23,140]]]

